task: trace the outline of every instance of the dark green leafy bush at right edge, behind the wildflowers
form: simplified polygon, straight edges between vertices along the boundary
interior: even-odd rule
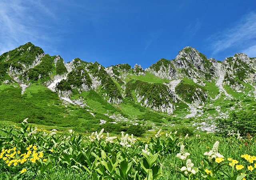
[[[218,119],[218,128],[223,134],[228,134],[228,130],[234,130],[241,136],[256,134],[256,112],[241,110],[239,112],[231,112],[229,118]]]

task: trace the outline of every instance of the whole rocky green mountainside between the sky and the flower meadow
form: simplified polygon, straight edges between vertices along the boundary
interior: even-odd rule
[[[214,130],[230,111],[255,110],[256,58],[223,62],[186,47],[173,60],[146,68],[104,67],[75,58],[64,63],[28,42],[0,56],[0,120],[91,132],[193,124]]]

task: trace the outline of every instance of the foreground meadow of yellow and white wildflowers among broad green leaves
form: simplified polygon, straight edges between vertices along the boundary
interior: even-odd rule
[[[3,126],[0,179],[11,180],[254,180],[256,140],[158,131],[136,138],[122,132],[90,135],[30,126]]]

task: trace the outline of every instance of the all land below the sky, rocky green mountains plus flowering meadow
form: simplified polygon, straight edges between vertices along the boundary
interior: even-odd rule
[[[255,180],[256,58],[0,56],[0,179]]]

